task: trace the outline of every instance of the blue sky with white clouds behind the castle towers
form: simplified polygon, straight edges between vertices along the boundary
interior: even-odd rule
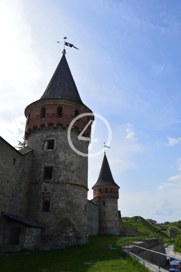
[[[180,1],[4,0],[0,13],[2,137],[21,140],[24,109],[43,94],[67,36],[80,48],[66,48],[80,96],[111,126],[122,216],[180,220]],[[99,151],[107,131],[98,120],[95,137]],[[89,158],[89,199],[102,159]]]

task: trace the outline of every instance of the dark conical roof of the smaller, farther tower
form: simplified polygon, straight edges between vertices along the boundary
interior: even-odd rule
[[[94,186],[92,187],[92,189],[97,186],[107,186],[107,185],[117,186],[119,188],[119,186],[113,180],[112,173],[111,173],[110,167],[109,167],[109,163],[108,163],[107,157],[104,153],[104,158],[103,158],[102,166],[100,169],[99,177],[98,177],[96,184],[94,184]]]

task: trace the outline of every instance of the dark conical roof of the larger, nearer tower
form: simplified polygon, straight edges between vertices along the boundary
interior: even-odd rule
[[[52,98],[68,99],[83,104],[65,54],[63,54],[61,61],[58,63],[58,66],[40,100]]]

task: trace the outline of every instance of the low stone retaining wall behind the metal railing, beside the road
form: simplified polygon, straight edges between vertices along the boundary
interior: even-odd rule
[[[162,238],[143,239],[138,242],[134,242],[132,244],[166,254]],[[148,260],[158,265],[158,259],[157,259],[156,253],[150,252],[147,250],[142,252],[142,249],[139,249],[136,247],[134,249],[132,248],[131,251],[135,252],[135,254],[140,256],[141,258],[143,258],[144,256],[145,260]],[[166,256],[163,256],[161,254],[158,254],[158,255],[159,255],[159,264],[161,267],[164,268],[166,266]]]

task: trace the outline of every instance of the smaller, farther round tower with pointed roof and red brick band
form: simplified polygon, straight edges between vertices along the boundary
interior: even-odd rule
[[[117,235],[119,232],[117,207],[119,186],[113,180],[105,153],[98,180],[92,189],[94,198],[99,197],[99,234]]]

